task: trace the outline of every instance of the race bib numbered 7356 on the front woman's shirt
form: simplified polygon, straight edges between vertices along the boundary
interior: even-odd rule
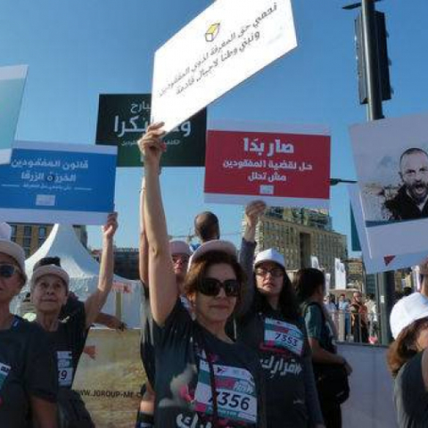
[[[216,378],[218,417],[245,423],[257,423],[256,385],[244,368],[213,365]],[[194,392],[197,412],[212,415],[210,366],[201,359],[198,384]]]

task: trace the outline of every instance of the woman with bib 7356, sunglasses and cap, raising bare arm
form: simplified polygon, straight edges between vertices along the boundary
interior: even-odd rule
[[[210,242],[193,253],[185,292],[194,321],[178,298],[158,174],[165,147],[161,126],[151,125],[139,141],[156,350],[155,426],[265,426],[257,355],[225,331],[243,284],[233,244]]]

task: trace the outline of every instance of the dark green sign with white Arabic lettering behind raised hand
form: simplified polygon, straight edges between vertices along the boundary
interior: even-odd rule
[[[137,141],[150,124],[150,94],[100,95],[95,144],[118,146],[118,167],[141,167]],[[164,141],[163,167],[203,167],[207,111],[174,128]]]

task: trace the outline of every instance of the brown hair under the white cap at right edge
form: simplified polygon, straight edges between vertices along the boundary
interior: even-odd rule
[[[391,343],[386,360],[392,376],[399,374],[399,369],[404,366],[408,360],[416,356],[415,343],[417,335],[424,328],[428,328],[428,317],[416,319],[411,325],[403,328],[399,333],[397,340]]]

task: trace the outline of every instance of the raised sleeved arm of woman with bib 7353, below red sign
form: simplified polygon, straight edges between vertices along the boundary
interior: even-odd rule
[[[239,251],[239,263],[243,267],[246,276],[245,290],[243,292],[243,302],[241,308],[236,313],[236,317],[243,317],[251,309],[254,300],[254,275],[253,261],[254,251],[256,249],[256,227],[259,223],[259,218],[266,210],[266,203],[263,201],[250,202],[244,211],[245,228],[243,232],[243,241],[241,243],[241,251]]]

